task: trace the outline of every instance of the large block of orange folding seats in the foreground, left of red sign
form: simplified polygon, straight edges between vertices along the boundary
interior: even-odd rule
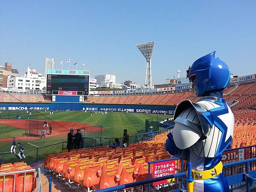
[[[147,177],[148,161],[171,157],[164,150],[166,134],[127,148],[105,146],[52,154],[45,158],[44,167],[73,189],[95,190],[131,183]]]

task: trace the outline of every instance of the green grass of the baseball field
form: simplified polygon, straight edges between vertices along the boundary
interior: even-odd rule
[[[93,113],[90,116],[90,112],[82,112],[82,111],[56,111],[53,115],[49,115],[48,112],[36,113],[32,112],[32,115],[29,116],[26,112],[2,112],[1,119],[3,118],[15,118],[17,116],[22,119],[27,119],[29,116],[30,119],[47,119],[45,116],[49,117],[52,120],[56,121],[68,121],[68,122],[81,122],[90,125],[102,125],[102,128],[105,131],[95,132],[95,133],[86,133],[84,137],[122,137],[123,129],[128,130],[128,134],[130,136],[135,135],[136,133],[145,132],[145,119],[153,119],[154,121],[161,121],[166,118],[170,118],[172,116],[164,116],[157,114],[144,114],[144,113],[119,113],[119,112],[108,112],[107,115],[102,115],[101,113]],[[50,123],[50,120],[47,120]],[[52,129],[54,132],[54,128]],[[4,132],[3,132],[4,131]],[[64,129],[64,131],[67,131]],[[20,137],[23,134],[24,130],[20,130],[18,128],[6,127],[5,125],[0,125],[0,140],[8,137]],[[66,137],[54,137],[54,138],[43,138],[37,140],[22,140],[24,149],[33,149],[46,145],[51,145],[55,143],[60,143],[66,141]],[[19,142],[19,141],[18,141]],[[109,142],[109,140],[106,142]],[[111,141],[112,142],[112,141]],[[12,142],[0,143],[0,152],[8,152],[11,148]],[[38,160],[43,159],[48,154],[59,153],[61,152],[62,144],[50,146],[43,149],[38,149]],[[17,151],[17,147],[16,147]],[[25,151],[25,155],[27,157],[26,162],[31,163],[36,161],[36,150],[33,151]],[[17,157],[15,154],[5,154],[4,163],[6,162],[16,162]],[[2,163],[2,157],[0,157],[0,163]]]

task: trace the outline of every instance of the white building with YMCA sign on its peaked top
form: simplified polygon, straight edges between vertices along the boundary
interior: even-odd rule
[[[7,87],[16,89],[42,90],[46,87],[46,78],[35,69],[28,67],[24,76],[9,75],[7,78]]]

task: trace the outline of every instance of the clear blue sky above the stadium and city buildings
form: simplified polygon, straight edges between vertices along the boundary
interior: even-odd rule
[[[256,1],[1,0],[0,65],[44,71],[44,58],[85,63],[91,75],[143,84],[136,44],[155,41],[153,84],[216,50],[239,76],[256,73]],[[55,68],[56,68],[55,67]],[[75,68],[75,67],[74,67]]]

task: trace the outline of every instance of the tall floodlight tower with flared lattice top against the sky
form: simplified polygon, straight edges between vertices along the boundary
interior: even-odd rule
[[[142,55],[147,61],[146,73],[145,73],[145,84],[146,88],[152,88],[152,76],[151,76],[151,57],[154,49],[154,41],[144,44],[137,44],[136,47],[140,50]]]

